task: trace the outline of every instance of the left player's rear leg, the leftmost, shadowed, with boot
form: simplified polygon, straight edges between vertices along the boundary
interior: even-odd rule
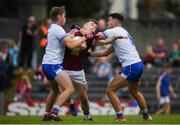
[[[49,117],[49,113],[50,113],[51,108],[54,105],[54,102],[56,101],[56,98],[58,95],[59,95],[58,85],[55,81],[51,81],[50,82],[50,92],[49,92],[48,97],[46,99],[45,114],[44,114],[44,117],[42,119],[43,121],[51,120]]]

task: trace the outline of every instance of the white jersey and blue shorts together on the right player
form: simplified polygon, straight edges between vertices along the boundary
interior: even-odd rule
[[[141,78],[144,65],[130,34],[122,27],[107,29],[103,34],[106,38],[114,36],[127,37],[127,39],[117,39],[111,42],[111,45],[123,67],[120,71],[121,76],[130,82],[138,82]]]

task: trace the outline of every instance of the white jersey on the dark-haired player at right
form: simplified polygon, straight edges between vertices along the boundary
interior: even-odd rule
[[[112,29],[107,29],[103,32],[104,36],[109,38],[113,36],[125,36],[127,39],[117,39],[111,42],[115,53],[118,57],[119,62],[123,67],[132,65],[134,63],[140,62],[141,59],[136,50],[134,42],[130,34],[122,27],[115,27]]]

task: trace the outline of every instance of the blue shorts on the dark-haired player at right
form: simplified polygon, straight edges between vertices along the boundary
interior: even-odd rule
[[[119,74],[127,81],[136,83],[141,79],[143,69],[143,62],[138,62],[122,68]]]

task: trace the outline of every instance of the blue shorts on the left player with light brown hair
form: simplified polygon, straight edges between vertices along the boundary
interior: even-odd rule
[[[64,71],[61,64],[43,64],[42,70],[48,80],[54,80],[59,72]]]

